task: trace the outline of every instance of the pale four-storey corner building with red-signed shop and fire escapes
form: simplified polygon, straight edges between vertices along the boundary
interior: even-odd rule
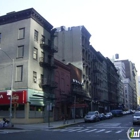
[[[12,89],[13,122],[48,120],[47,108],[53,108],[53,90],[57,86],[54,53],[58,49],[52,43],[55,37],[52,29],[33,8],[0,16],[1,117],[9,116],[7,90]]]

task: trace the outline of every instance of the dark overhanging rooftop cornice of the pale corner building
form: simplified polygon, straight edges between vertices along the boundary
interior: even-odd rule
[[[18,12],[11,12],[6,15],[0,16],[0,25],[13,23],[28,18],[34,19],[38,24],[40,24],[49,32],[53,28],[53,26],[33,8]]]

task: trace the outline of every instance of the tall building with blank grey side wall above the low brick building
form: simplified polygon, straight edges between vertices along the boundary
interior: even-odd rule
[[[64,64],[71,63],[82,71],[83,90],[87,102],[91,102],[91,62],[90,54],[90,33],[84,26],[57,28],[54,44],[58,46],[59,52],[55,54],[55,59]],[[89,99],[88,99],[89,98]]]

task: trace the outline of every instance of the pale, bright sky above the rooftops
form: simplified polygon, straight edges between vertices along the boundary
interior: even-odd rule
[[[140,75],[139,0],[0,0],[0,16],[28,8],[54,27],[84,25],[92,46],[105,57],[119,53],[135,63]]]

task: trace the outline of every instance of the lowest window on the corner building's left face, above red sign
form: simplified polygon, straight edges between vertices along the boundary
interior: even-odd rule
[[[21,82],[23,78],[23,66],[17,66],[16,67],[16,81]]]

